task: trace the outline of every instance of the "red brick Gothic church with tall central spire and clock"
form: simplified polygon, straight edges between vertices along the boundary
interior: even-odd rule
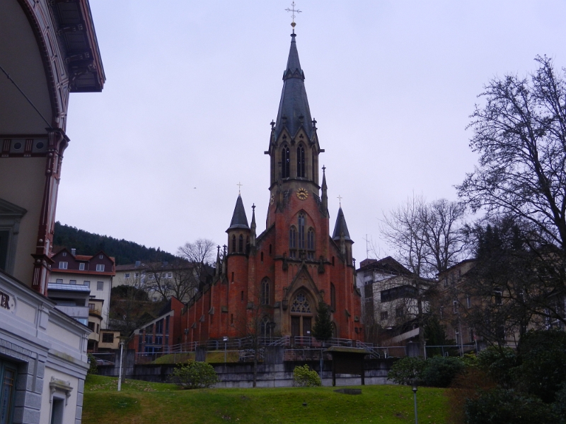
[[[256,233],[241,195],[216,272],[183,311],[185,343],[243,336],[311,336],[319,302],[330,306],[335,338],[363,341],[350,232],[340,206],[330,234],[325,167],[320,175],[316,120],[311,117],[291,34],[277,121],[271,122],[269,208]],[[320,182],[321,179],[321,182]],[[294,338],[291,338],[294,340]]]

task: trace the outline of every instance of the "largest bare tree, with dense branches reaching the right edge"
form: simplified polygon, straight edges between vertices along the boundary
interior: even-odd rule
[[[523,290],[531,281],[533,313],[564,322],[566,70],[556,71],[548,57],[535,60],[530,76],[494,78],[480,94],[485,104],[476,105],[469,125],[480,162],[457,188],[474,211],[528,224],[521,250],[531,265],[514,278],[523,278]]]

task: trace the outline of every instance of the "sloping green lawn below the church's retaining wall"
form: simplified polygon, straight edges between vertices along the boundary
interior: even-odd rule
[[[126,380],[120,393],[116,389],[115,378],[88,376],[83,424],[415,422],[406,386],[364,386],[361,395],[347,395],[333,387],[180,390]],[[446,422],[443,394],[444,389],[419,388],[419,423]]]

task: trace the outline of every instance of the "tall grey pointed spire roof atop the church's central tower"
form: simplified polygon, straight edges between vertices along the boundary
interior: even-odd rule
[[[309,138],[313,135],[311,110],[308,107],[305,90],[305,74],[301,69],[299,52],[296,49],[295,31],[291,34],[291,49],[287,59],[287,69],[283,73],[283,91],[275,123],[275,137],[277,138],[284,127],[294,136],[303,126]]]

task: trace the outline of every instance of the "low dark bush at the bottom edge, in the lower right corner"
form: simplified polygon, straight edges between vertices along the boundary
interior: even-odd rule
[[[483,391],[478,399],[468,399],[464,414],[466,424],[558,423],[552,406],[507,389]]]

